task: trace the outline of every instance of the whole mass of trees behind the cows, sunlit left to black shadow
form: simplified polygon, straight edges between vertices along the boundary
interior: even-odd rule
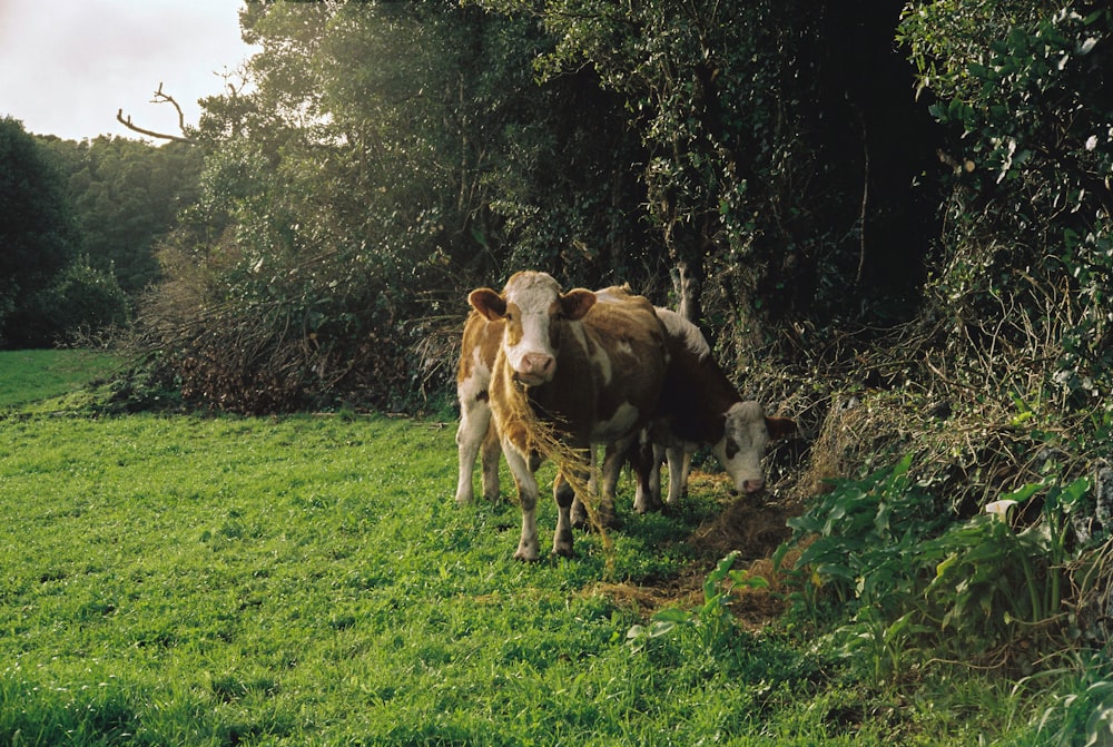
[[[934,216],[898,3],[881,26],[582,6],[248,6],[253,87],[206,104],[203,195],[147,320],[185,389],[413,404],[451,373],[466,292],[524,266],[682,297],[729,361],[789,321],[907,316]]]

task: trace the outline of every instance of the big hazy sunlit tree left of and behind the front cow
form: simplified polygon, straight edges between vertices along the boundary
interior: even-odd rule
[[[189,392],[388,406],[423,361],[451,368],[441,320],[514,264],[648,275],[620,101],[539,87],[534,22],[451,2],[253,3],[242,22],[253,85],[205,102],[201,193],[142,315]]]

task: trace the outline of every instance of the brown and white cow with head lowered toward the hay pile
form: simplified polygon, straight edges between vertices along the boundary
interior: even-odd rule
[[[660,508],[660,449],[668,454],[669,493],[676,502],[688,489],[691,454],[701,445],[711,451],[730,475],[735,489],[754,493],[765,486],[761,458],[766,446],[796,431],[788,417],[768,417],[761,405],[743,402],[738,390],[716,363],[711,346],[695,324],[668,308],[658,308],[669,344],[669,366],[657,413],[648,429],[648,441],[658,448],[651,466],[638,468],[639,511]],[[653,472],[646,476],[644,472]]]

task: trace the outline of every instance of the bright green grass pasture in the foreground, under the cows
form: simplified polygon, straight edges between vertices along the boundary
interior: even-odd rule
[[[1023,744],[992,686],[876,690],[802,630],[631,642],[614,590],[690,577],[718,499],[522,564],[513,504],[453,503],[454,430],[9,409],[0,744]]]

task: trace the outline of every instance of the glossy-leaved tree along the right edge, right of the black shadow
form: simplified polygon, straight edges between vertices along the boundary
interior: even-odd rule
[[[1113,11],[1105,3],[915,3],[902,39],[948,127],[930,305],[951,358],[1006,361],[1063,402],[1113,401]]]

